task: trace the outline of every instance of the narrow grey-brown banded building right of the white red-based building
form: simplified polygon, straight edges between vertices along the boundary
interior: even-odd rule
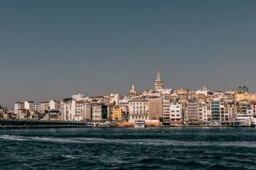
[[[198,101],[188,99],[187,101],[188,124],[198,123]]]

